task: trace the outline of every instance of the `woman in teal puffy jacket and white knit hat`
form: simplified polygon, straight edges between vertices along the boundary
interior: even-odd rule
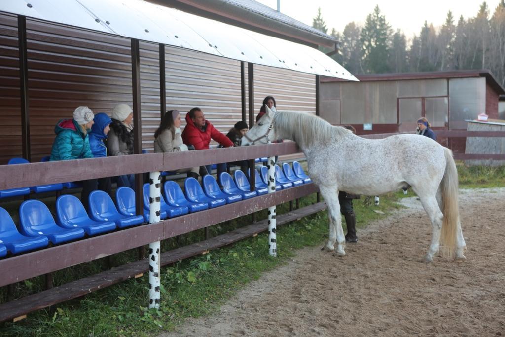
[[[56,138],[50,161],[93,158],[88,130],[93,125],[93,112],[88,107],[74,110],[73,119],[62,119],[56,124]],[[82,180],[81,202],[89,212],[89,194],[96,189],[96,179]]]

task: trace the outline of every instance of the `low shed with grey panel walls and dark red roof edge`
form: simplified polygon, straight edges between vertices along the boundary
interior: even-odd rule
[[[498,118],[498,97],[505,94],[488,70],[356,77],[360,82],[321,79],[320,115],[360,134],[413,131],[420,117],[434,130],[466,130],[465,120],[480,113]],[[453,150],[464,150],[462,139],[452,140]]]

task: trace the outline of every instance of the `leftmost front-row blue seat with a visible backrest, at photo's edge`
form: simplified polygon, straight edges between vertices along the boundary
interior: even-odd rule
[[[49,240],[45,236],[21,235],[9,212],[0,207],[0,244],[5,245],[12,254],[19,254],[47,247]]]

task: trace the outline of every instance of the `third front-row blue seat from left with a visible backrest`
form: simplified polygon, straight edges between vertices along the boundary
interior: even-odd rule
[[[81,201],[69,194],[59,197],[56,201],[56,222],[63,228],[82,228],[89,236],[116,229],[114,221],[91,220]]]

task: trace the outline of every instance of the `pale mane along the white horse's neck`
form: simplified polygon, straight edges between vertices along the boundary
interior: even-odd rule
[[[346,128],[333,126],[315,115],[295,111],[278,111],[275,124],[283,130],[286,138],[296,141],[301,147],[328,140],[330,136],[351,133]]]

